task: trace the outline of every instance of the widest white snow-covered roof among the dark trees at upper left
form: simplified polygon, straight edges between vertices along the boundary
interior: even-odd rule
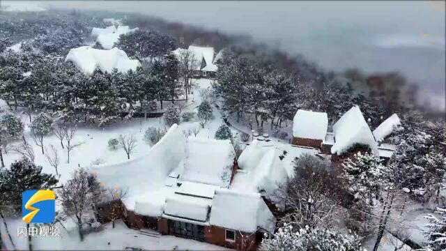
[[[113,48],[112,50],[98,50],[89,46],[71,49],[65,61],[71,61],[83,73],[93,73],[96,67],[111,72],[117,68],[121,73],[128,70],[136,70],[141,63],[137,59],[129,59],[123,50]]]

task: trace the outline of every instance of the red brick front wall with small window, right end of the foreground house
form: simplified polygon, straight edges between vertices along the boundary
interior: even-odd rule
[[[226,241],[224,228],[215,226],[204,227],[204,239],[207,243],[220,245],[236,250],[256,250],[256,234],[236,231],[236,241]]]

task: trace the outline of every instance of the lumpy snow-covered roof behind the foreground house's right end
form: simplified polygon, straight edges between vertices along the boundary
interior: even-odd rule
[[[254,140],[238,158],[238,167],[243,172],[236,173],[230,189],[272,195],[289,177],[281,154],[279,149],[261,146]]]

